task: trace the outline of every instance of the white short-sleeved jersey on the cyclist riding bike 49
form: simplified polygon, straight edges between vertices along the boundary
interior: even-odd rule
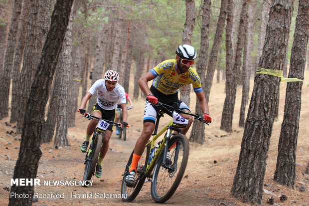
[[[97,92],[97,102],[98,105],[105,110],[113,110],[117,107],[117,102],[126,103],[125,89],[120,85],[116,84],[113,91],[108,91],[105,86],[105,80],[97,80],[89,89],[92,95]]]

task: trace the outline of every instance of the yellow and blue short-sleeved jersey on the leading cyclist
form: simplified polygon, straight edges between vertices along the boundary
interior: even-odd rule
[[[156,65],[150,72],[154,75],[153,86],[163,94],[175,94],[184,85],[192,84],[194,92],[203,91],[201,80],[196,71],[189,69],[182,74],[176,72],[176,59],[168,59]]]

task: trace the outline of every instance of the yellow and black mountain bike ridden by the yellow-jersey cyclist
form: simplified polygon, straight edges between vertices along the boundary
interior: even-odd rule
[[[153,105],[159,108],[153,138],[146,144],[146,150],[144,150],[137,166],[136,181],[132,187],[127,186],[125,180],[129,174],[134,150],[126,165],[121,186],[122,200],[125,202],[132,202],[137,197],[146,178],[152,179],[151,195],[154,202],[164,203],[167,201],[174,194],[182,179],[189,156],[189,141],[180,130],[180,128],[186,127],[188,120],[182,118],[179,114],[191,115],[195,120],[208,125],[201,116],[180,110],[179,103],[169,106],[158,102]],[[159,120],[163,117],[163,114],[168,114],[173,117],[173,120],[157,133]],[[162,141],[154,146],[155,140],[165,131]],[[172,133],[172,131],[176,133]],[[167,152],[169,152],[171,163],[165,161]]]

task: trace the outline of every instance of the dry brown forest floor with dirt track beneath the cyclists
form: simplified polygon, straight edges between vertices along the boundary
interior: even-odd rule
[[[309,72],[305,79],[309,80]],[[133,86],[131,86],[132,88]],[[273,181],[276,169],[278,141],[283,120],[286,83],[281,84],[279,118],[274,122],[273,133],[268,151],[267,168],[264,179],[263,205],[268,205],[270,197],[280,206],[309,206],[309,176],[304,174],[309,161],[309,88],[304,85],[302,93],[302,110],[300,129],[296,152],[296,187],[286,187]],[[164,205],[166,206],[248,206],[231,197],[230,190],[236,172],[243,128],[238,127],[241,88],[237,90],[234,110],[233,132],[220,130],[222,107],[225,98],[224,83],[214,84],[209,108],[213,118],[210,126],[206,125],[205,143],[203,145],[190,142],[188,165],[178,189]],[[131,92],[133,94],[133,92]],[[250,95],[252,93],[252,82]],[[130,93],[129,93],[130,94]],[[35,186],[38,194],[60,194],[61,198],[41,198],[34,206],[119,206],[119,205],[159,205],[152,200],[150,193],[151,182],[145,183],[142,191],[132,203],[124,203],[121,198],[122,174],[125,164],[134,148],[135,142],[142,131],[144,99],[133,101],[135,108],[129,111],[129,129],[127,141],[118,139],[113,133],[109,152],[103,161],[103,175],[93,177],[93,185],[87,188],[81,186]],[[195,107],[195,95],[191,96],[191,108]],[[194,111],[192,111],[194,112]],[[162,118],[161,125],[169,121],[169,117]],[[37,178],[43,181],[71,181],[82,180],[84,173],[84,157],[79,147],[84,140],[88,119],[76,113],[75,127],[68,129],[69,146],[55,149],[53,142],[42,144],[43,155],[40,158]],[[14,166],[18,158],[20,135],[16,135],[15,124],[9,124],[9,118],[0,120],[0,206],[8,204],[10,178],[13,176]],[[190,131],[187,133],[189,136]],[[299,188],[306,188],[300,192]],[[87,195],[88,194],[88,195]],[[92,198],[90,197],[92,194]],[[288,199],[280,201],[280,196]],[[79,198],[88,196],[89,198]],[[108,196],[113,196],[112,198]]]

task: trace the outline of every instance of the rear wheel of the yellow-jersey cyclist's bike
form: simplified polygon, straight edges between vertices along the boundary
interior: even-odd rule
[[[121,197],[124,202],[132,202],[138,196],[138,194],[140,193],[145,183],[146,176],[144,174],[145,174],[148,159],[149,159],[150,145],[146,147],[146,150],[144,150],[142,157],[139,160],[137,171],[136,171],[136,176],[135,176],[135,180],[136,180],[135,185],[133,187],[128,187],[126,184],[126,177],[127,177],[127,174],[129,172],[130,165],[132,162],[133,152],[131,153],[131,156],[126,165],[125,174],[124,174],[124,177],[122,179],[122,184],[121,184]]]

